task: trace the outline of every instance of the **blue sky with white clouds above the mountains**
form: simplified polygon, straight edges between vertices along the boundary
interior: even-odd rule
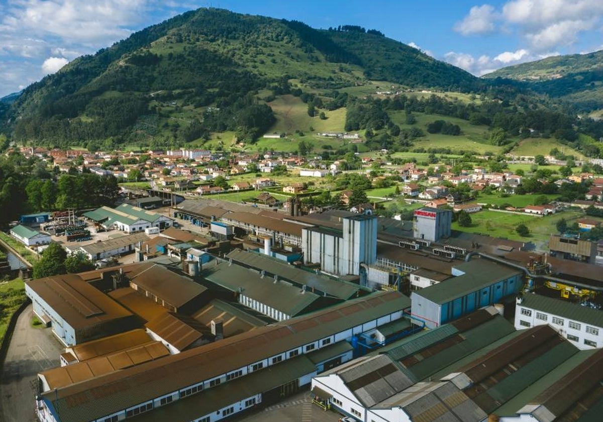
[[[198,7],[361,25],[475,75],[603,49],[603,0],[0,0],[0,96]]]

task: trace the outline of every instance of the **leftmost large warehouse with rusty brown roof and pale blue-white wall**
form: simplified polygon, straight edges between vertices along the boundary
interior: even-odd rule
[[[75,274],[25,283],[33,310],[66,346],[136,327],[133,313]]]

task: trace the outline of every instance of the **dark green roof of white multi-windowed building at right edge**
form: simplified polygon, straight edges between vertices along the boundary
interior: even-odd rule
[[[537,294],[526,294],[523,296],[520,306],[541,310],[542,312],[561,316],[567,320],[576,321],[577,323],[603,327],[603,311],[580,306],[565,300]]]

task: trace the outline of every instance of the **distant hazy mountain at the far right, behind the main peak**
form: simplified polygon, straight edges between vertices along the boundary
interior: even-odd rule
[[[603,109],[603,50],[547,57],[484,75],[499,77],[519,81],[523,87],[568,102],[582,112]]]

